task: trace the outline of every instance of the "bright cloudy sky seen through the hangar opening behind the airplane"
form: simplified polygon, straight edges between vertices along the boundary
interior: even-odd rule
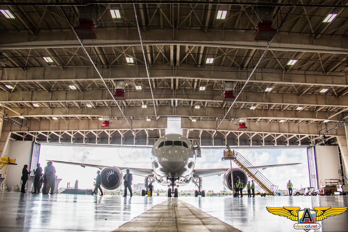
[[[168,122],[166,133],[177,133],[180,122]],[[203,149],[202,158],[197,158],[195,168],[226,168],[230,167],[229,161],[221,161],[222,150]],[[306,149],[239,149],[254,166],[279,163],[301,163],[295,166],[275,167],[260,170],[279,189],[286,189],[286,182],[291,179],[295,188],[309,186],[308,163]],[[45,166],[45,160],[61,160],[68,162],[81,162],[106,166],[151,168],[151,149],[119,148],[119,147],[74,147],[74,146],[49,146],[41,145],[40,163]],[[234,163],[232,163],[232,166]],[[62,178],[60,187],[70,182],[74,186],[79,180],[79,188],[93,188],[97,168],[82,168],[80,166],[54,163],[56,175]],[[236,166],[236,165],[235,165]],[[133,184],[144,183],[143,177],[134,176]],[[166,186],[155,184],[155,189],[166,189]],[[195,189],[194,184],[180,186],[179,190]],[[223,189],[222,175],[203,178],[203,189],[220,191]]]

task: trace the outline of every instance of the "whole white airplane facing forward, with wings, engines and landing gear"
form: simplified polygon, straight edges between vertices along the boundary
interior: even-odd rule
[[[107,190],[116,190],[122,186],[123,173],[126,169],[130,173],[145,177],[145,187],[148,181],[157,182],[160,185],[168,186],[168,197],[178,197],[178,189],[175,186],[187,185],[193,182],[198,190],[195,191],[195,197],[201,195],[205,197],[205,191],[202,190],[202,178],[223,175],[223,184],[226,189],[233,191],[231,184],[231,171],[234,182],[241,180],[243,189],[247,185],[247,174],[240,168],[217,168],[217,169],[195,169],[196,159],[201,157],[201,150],[198,142],[193,146],[191,141],[180,134],[167,134],[160,137],[152,147],[151,161],[152,168],[127,168],[116,166],[91,165],[86,163],[74,163],[65,161],[49,160],[56,163],[65,163],[70,165],[79,165],[81,167],[95,167],[101,171],[101,185]],[[270,168],[288,165],[297,165],[299,163],[286,163],[277,165],[256,166],[254,168]],[[142,196],[145,190],[142,190]]]

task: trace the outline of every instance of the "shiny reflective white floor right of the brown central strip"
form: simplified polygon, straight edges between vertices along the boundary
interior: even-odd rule
[[[298,196],[298,197],[182,197],[180,200],[203,210],[243,232],[251,231],[304,231],[295,230],[296,222],[277,216],[266,210],[268,207],[300,207],[313,209],[317,206],[346,207],[348,196]],[[321,228],[314,231],[348,231],[348,211],[341,215],[328,217],[318,222]]]

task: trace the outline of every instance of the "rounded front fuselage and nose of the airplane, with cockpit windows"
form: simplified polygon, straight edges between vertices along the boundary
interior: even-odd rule
[[[195,168],[196,152],[188,138],[179,134],[160,137],[151,150],[155,179],[167,185],[167,179],[175,178],[180,185],[188,184]]]

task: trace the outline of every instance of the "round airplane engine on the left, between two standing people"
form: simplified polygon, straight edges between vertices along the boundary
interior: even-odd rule
[[[104,168],[101,173],[101,182],[104,189],[115,190],[121,187],[123,182],[123,173],[117,167]]]

